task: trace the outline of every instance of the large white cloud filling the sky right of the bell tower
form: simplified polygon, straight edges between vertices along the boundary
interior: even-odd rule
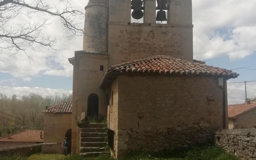
[[[256,50],[256,1],[193,0],[194,58],[242,59]]]

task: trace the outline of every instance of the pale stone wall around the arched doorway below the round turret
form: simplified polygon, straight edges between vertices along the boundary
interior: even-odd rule
[[[87,100],[88,96],[92,93],[97,94],[99,97],[99,118],[105,118],[107,112],[107,98],[106,93],[99,88],[100,82],[107,70],[107,55],[88,55],[79,53],[76,54],[79,61],[78,70],[78,93],[77,93],[77,120],[81,120],[81,113],[85,112],[87,116]],[[103,65],[104,71],[100,71],[100,65]],[[72,122],[76,125],[76,121]],[[80,150],[80,128],[76,131],[76,151]],[[73,151],[72,151],[73,152]],[[73,152],[75,153],[75,152]]]

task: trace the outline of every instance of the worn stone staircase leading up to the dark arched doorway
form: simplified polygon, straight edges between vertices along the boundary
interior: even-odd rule
[[[85,124],[80,130],[80,155],[107,153],[107,128],[104,124]]]

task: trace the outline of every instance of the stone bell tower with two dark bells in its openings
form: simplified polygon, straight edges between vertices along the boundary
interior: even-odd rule
[[[109,0],[108,14],[108,66],[156,55],[193,61],[192,0]]]

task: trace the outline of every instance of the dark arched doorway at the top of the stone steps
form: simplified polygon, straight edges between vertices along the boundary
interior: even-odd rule
[[[90,94],[87,101],[87,117],[89,119],[98,119],[99,97],[97,94]]]

